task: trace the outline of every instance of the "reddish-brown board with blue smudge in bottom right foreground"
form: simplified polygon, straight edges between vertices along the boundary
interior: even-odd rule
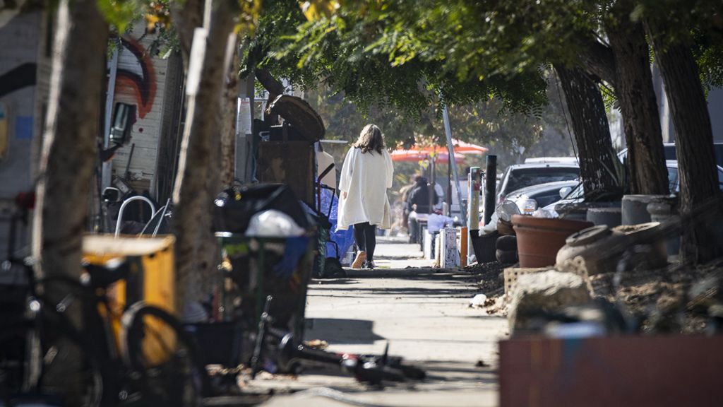
[[[500,406],[720,406],[723,336],[500,341]]]

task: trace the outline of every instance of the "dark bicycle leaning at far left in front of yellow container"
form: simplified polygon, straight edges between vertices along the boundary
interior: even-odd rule
[[[142,301],[120,312],[111,306],[108,288],[132,278],[134,261],[86,264],[80,280],[36,281],[32,264],[10,250],[3,270],[17,267],[25,281],[16,279],[14,290],[22,290],[25,301],[14,310],[22,308],[22,315],[0,319],[4,406],[27,400],[84,407],[200,405],[208,377],[181,323]],[[67,294],[48,298],[43,292],[48,285],[63,285]],[[82,316],[82,327],[69,314]]]

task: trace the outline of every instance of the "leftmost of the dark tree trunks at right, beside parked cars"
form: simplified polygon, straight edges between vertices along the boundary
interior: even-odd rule
[[[619,190],[615,179],[617,159],[602,95],[590,77],[579,68],[555,65],[565,93],[573,132],[578,145],[580,176],[586,198]]]

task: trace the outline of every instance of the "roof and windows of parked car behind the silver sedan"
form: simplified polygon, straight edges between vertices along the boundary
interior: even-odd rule
[[[496,204],[504,201],[510,192],[547,182],[572,181],[580,177],[577,164],[517,164],[510,165],[497,183]]]

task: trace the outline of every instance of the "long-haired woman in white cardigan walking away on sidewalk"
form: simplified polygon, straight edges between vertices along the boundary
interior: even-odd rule
[[[338,229],[354,225],[354,241],[359,249],[351,264],[354,269],[374,268],[377,226],[391,227],[387,188],[392,188],[393,174],[382,130],[375,125],[364,126],[359,140],[346,153],[339,182]]]

